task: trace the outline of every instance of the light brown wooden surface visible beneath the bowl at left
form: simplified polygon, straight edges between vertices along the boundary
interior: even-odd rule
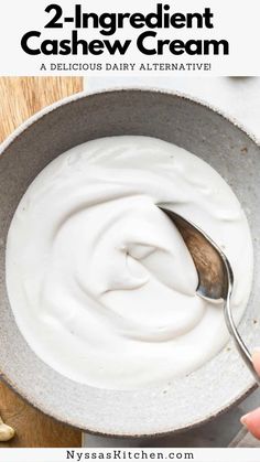
[[[0,141],[44,106],[82,89],[82,78],[1,77]],[[61,448],[82,444],[80,431],[44,416],[1,383],[0,415],[17,432],[13,440],[0,443],[0,448]]]

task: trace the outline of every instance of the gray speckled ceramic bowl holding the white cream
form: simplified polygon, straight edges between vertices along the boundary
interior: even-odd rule
[[[205,366],[175,379],[167,393],[164,384],[139,391],[97,389],[65,378],[35,356],[17,327],[6,289],[7,233],[31,181],[75,144],[116,135],[172,141],[213,165],[234,189],[254,237],[253,288],[240,332],[249,346],[260,343],[259,147],[234,122],[187,97],[141,89],[112,90],[79,95],[45,109],[2,147],[0,369],[21,396],[64,422],[102,434],[160,434],[212,419],[252,389],[253,379],[231,342]]]

